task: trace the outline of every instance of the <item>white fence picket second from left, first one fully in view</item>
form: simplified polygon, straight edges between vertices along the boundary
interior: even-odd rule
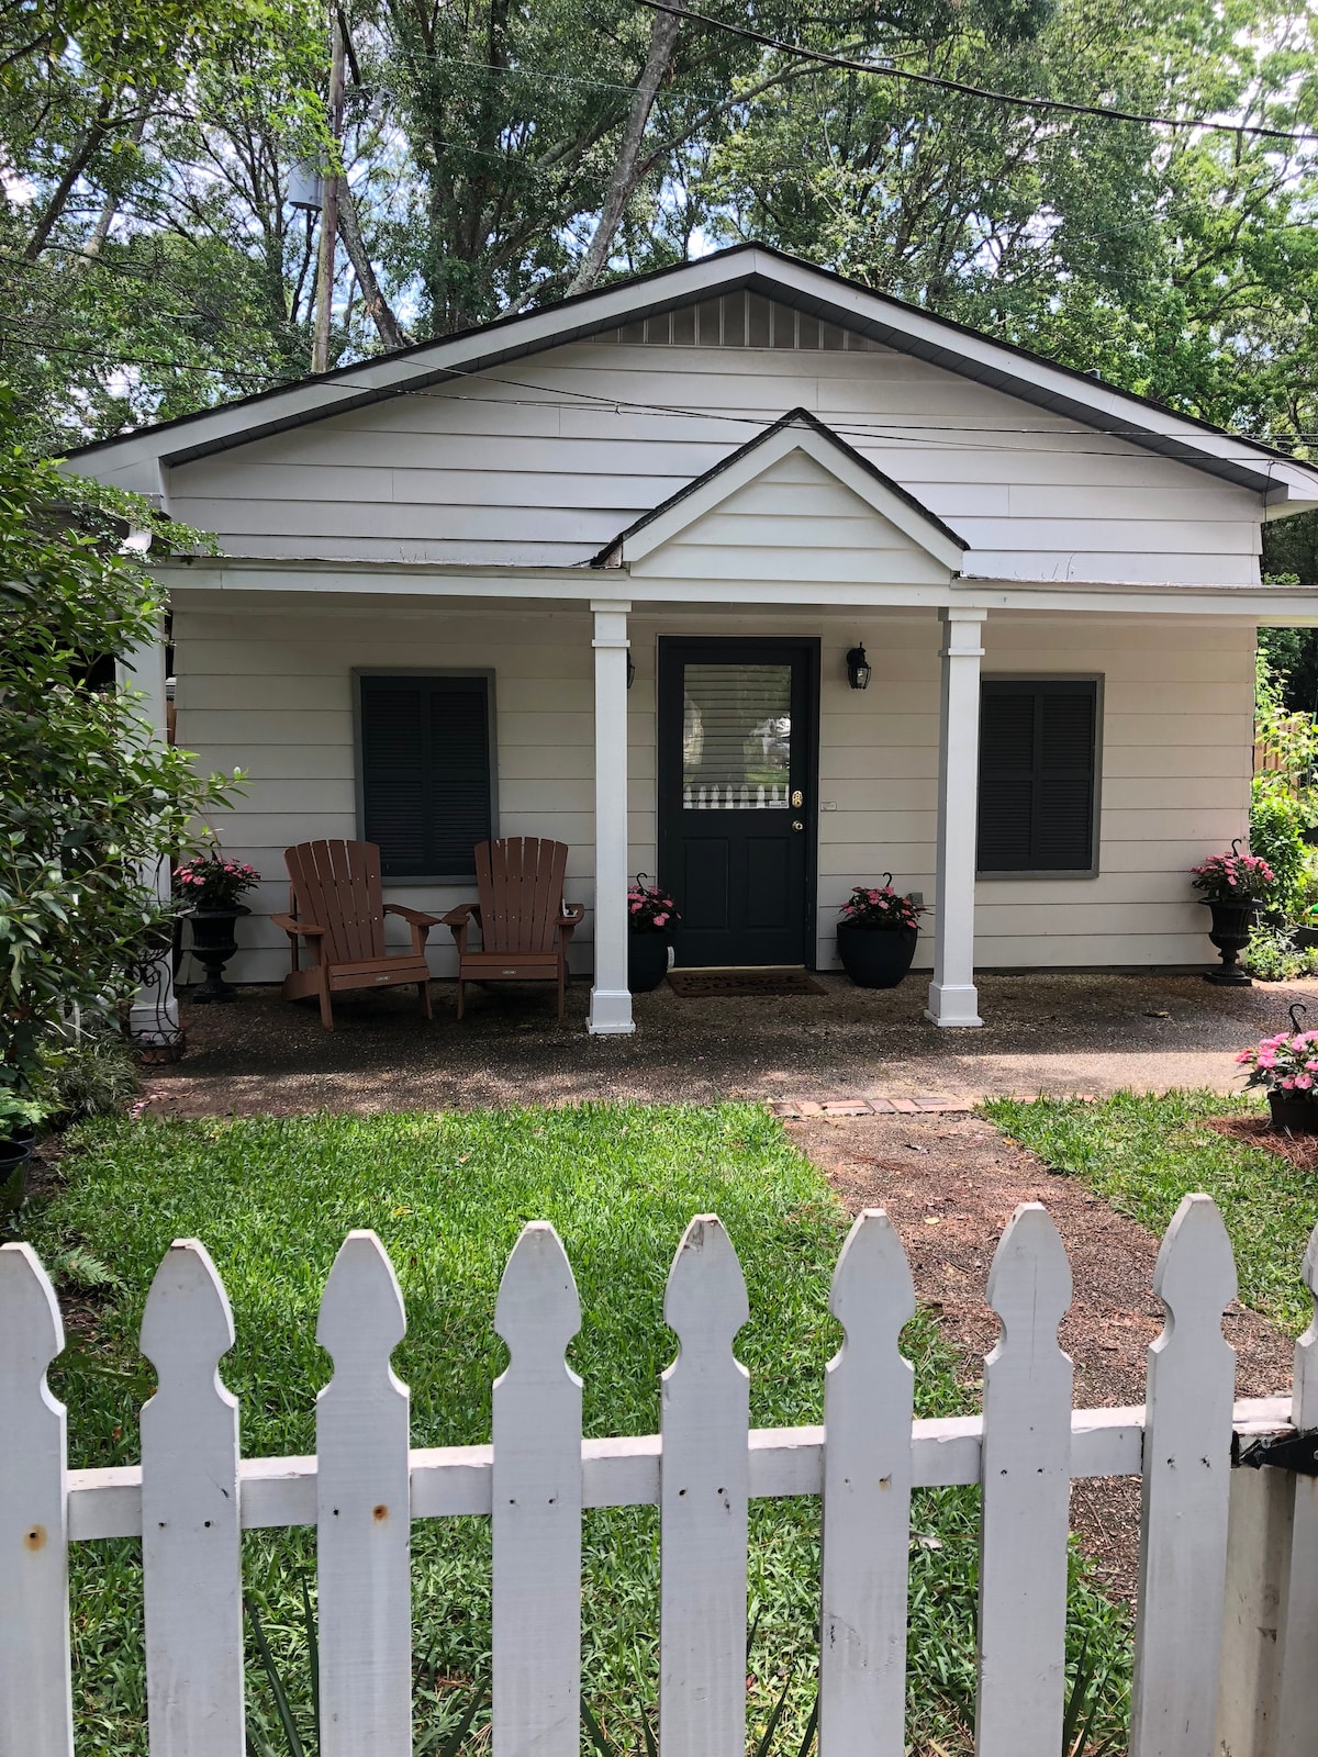
[[[142,1587],[151,1757],[243,1757],[237,1399],[220,1383],[234,1314],[214,1263],[176,1239],[142,1316]]]

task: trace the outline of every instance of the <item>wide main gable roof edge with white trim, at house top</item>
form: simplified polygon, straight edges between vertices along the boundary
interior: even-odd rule
[[[764,244],[735,244],[538,311],[496,318],[478,329],[257,392],[216,409],[77,446],[67,459],[79,466],[95,459],[97,473],[111,466],[116,474],[155,462],[185,464],[738,288],[764,293],[1054,415],[1177,459],[1251,488],[1271,503],[1293,497],[1295,504],[1318,504],[1318,469],[1283,452],[1179,415],[1148,397],[1116,390],[1090,374],[875,293]]]

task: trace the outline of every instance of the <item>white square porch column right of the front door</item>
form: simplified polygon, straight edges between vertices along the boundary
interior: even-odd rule
[[[940,611],[942,705],[938,712],[938,854],[933,915],[933,982],[924,1017],[935,1024],[982,1024],[975,993],[975,831],[979,796],[979,661],[986,610]]]

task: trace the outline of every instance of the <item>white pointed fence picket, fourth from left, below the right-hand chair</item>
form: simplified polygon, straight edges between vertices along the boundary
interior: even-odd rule
[[[582,1694],[582,1325],[555,1230],[532,1221],[499,1284],[494,1328],[494,1757],[578,1757]]]

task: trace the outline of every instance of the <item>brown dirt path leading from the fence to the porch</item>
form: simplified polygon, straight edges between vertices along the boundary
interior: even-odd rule
[[[1049,1174],[981,1117],[845,1117],[789,1124],[852,1212],[884,1207],[902,1233],[916,1293],[938,1312],[974,1385],[998,1334],[984,1284],[1002,1228],[1021,1202],[1044,1202],[1070,1256],[1075,1300],[1061,1346],[1075,1362],[1075,1402],[1144,1402],[1144,1351],[1162,1330],[1153,1295],[1158,1240],[1070,1177]],[[1292,1342],[1234,1305],[1237,1397],[1290,1386]],[[1072,1523],[1109,1592],[1132,1597],[1139,1565],[1139,1481],[1077,1483]]]

